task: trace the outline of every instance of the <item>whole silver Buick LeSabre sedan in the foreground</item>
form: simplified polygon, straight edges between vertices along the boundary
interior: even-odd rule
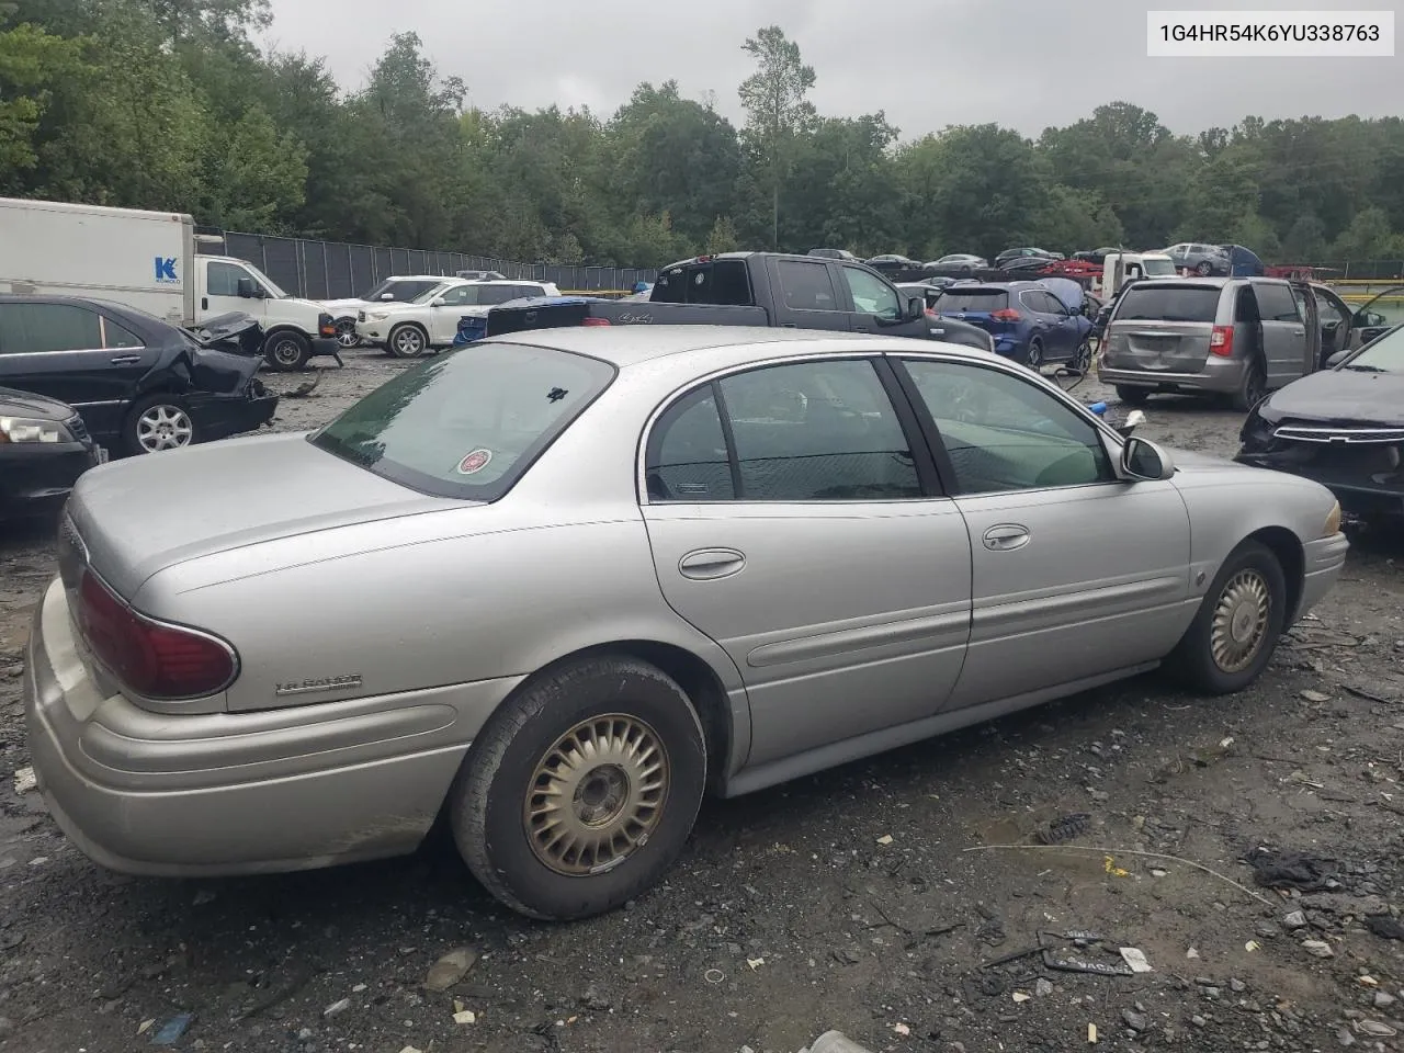
[[[153,508],[180,508],[153,518]],[[1251,684],[1345,560],[1316,483],[939,343],[557,329],[320,431],[95,469],[25,674],[110,868],[413,851],[578,918],[748,793],[1157,665]]]

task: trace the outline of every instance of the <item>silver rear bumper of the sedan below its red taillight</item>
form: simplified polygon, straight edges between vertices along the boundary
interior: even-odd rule
[[[24,680],[31,762],[63,833],[126,873],[327,866],[413,851],[517,678],[249,713],[104,698],[53,583]]]

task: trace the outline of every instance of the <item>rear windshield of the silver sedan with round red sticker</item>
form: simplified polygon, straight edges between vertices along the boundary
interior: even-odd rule
[[[421,493],[496,501],[614,376],[597,358],[479,341],[400,373],[312,444]]]

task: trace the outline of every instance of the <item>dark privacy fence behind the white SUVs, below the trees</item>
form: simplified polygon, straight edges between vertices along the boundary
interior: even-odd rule
[[[284,292],[312,300],[351,299],[390,275],[498,271],[507,278],[555,282],[562,292],[633,292],[637,282],[651,282],[657,268],[522,264],[465,253],[428,249],[316,241],[305,237],[225,233],[223,249],[211,241],[202,251],[223,251],[247,260],[272,278]]]

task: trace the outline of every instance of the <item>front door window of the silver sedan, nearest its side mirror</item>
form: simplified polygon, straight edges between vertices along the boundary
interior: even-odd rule
[[[907,359],[941,432],[958,494],[1109,483],[1101,432],[1049,392],[1001,369]]]

